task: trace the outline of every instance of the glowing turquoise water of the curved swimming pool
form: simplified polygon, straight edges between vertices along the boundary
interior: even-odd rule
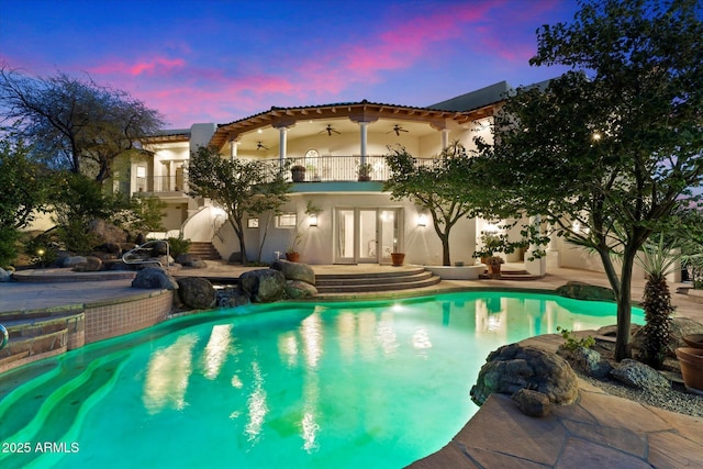
[[[477,411],[491,350],[614,323],[500,292],[182,317],[0,376],[0,467],[399,468]]]

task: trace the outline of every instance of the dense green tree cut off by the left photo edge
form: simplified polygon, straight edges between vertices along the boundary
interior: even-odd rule
[[[20,230],[44,211],[51,188],[48,171],[32,161],[22,138],[0,139],[0,266],[7,266],[16,257]]]

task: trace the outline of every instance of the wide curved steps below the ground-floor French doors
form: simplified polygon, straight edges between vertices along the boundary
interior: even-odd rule
[[[315,288],[321,294],[367,293],[431,287],[440,280],[424,267],[417,267],[382,272],[319,273]]]

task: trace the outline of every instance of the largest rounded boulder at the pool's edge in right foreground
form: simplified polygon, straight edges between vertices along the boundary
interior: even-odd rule
[[[481,405],[493,392],[512,395],[523,388],[542,392],[557,404],[571,404],[579,395],[576,373],[563,358],[511,344],[488,356],[471,388],[471,400]]]

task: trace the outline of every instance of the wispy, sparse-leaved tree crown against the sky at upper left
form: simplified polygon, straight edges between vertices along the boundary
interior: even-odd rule
[[[163,126],[157,111],[126,92],[59,72],[33,78],[0,67],[0,116],[54,167],[102,182],[112,163]]]

